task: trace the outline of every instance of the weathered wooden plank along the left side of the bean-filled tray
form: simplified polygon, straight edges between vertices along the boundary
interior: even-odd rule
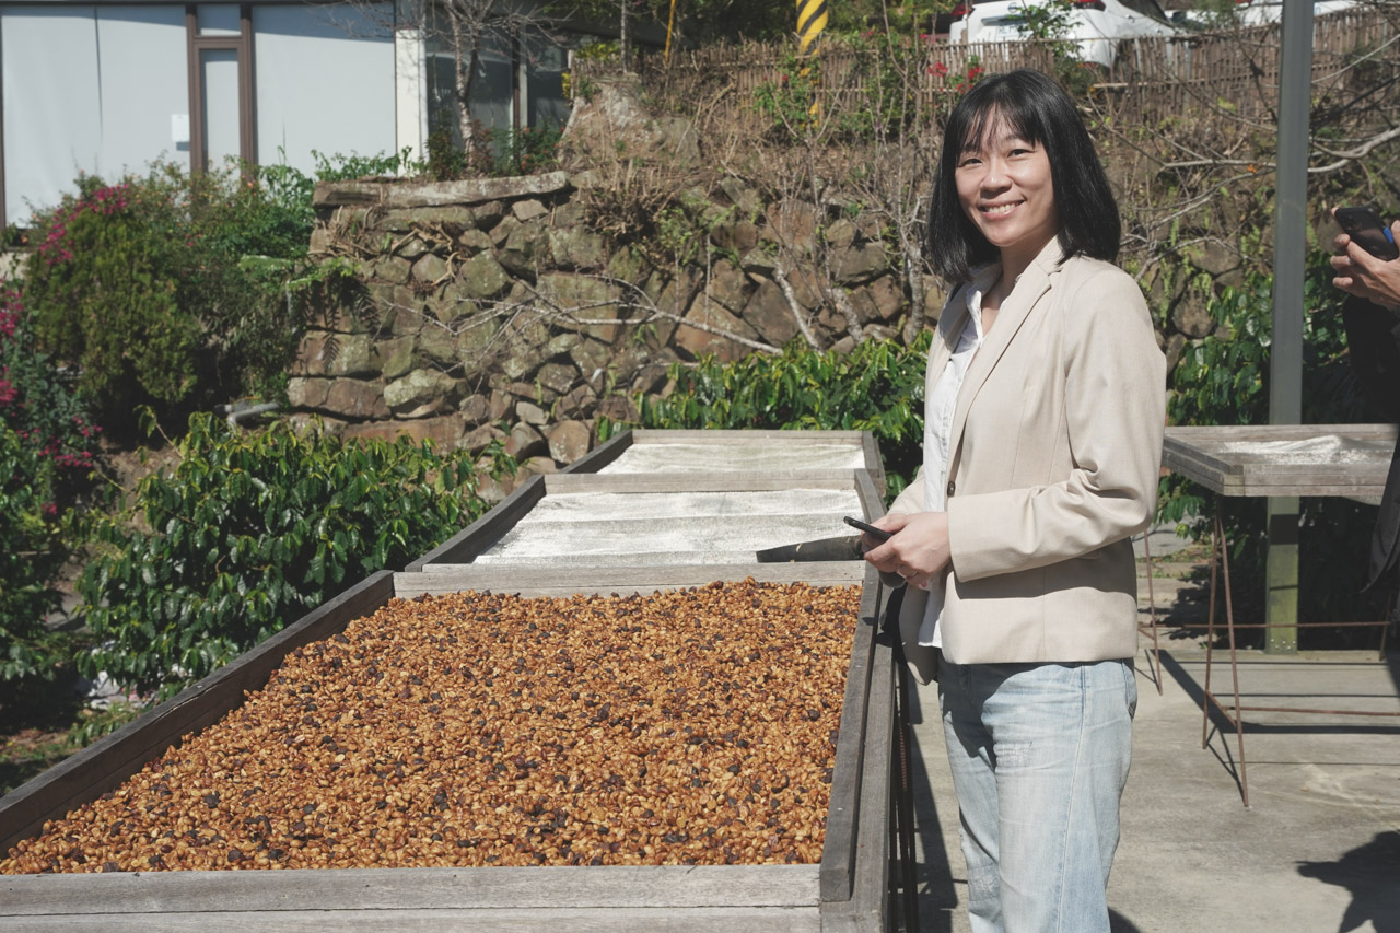
[[[0,852],[35,835],[45,820],[66,815],[116,787],[182,735],[217,721],[263,686],[286,654],[329,637],[393,595],[393,574],[382,570],[304,615],[258,647],[192,684],[140,719],[0,797]]]

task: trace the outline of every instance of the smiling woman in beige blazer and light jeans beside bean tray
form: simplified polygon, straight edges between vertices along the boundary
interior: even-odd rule
[[[1070,97],[1019,70],[953,109],[928,252],[959,283],[924,465],[865,559],[937,675],[974,933],[1107,933],[1137,705],[1128,538],[1154,511],[1165,360]]]

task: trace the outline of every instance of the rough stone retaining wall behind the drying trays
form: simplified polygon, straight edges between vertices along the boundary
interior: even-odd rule
[[[358,307],[332,308],[305,333],[294,412],[344,436],[407,433],[473,452],[500,440],[549,471],[589,450],[599,413],[634,417],[636,392],[665,391],[676,360],[771,352],[799,335],[850,347],[896,333],[907,312],[878,230],[858,217],[825,231],[826,282],[812,268],[783,273],[778,237],[811,237],[815,219],[770,220],[728,179],[706,195],[717,220],[699,261],[658,269],[591,228],[592,185],[587,172],[318,185],[312,254],[353,262],[363,289]],[[850,311],[832,310],[823,287]]]

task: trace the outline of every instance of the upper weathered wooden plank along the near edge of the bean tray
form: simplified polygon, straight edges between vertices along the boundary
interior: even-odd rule
[[[816,906],[815,864],[300,869],[0,878],[0,920],[62,912]]]

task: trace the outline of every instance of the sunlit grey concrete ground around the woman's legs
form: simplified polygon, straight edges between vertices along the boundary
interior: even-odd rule
[[[1247,713],[1240,769],[1236,733],[1215,716],[1203,748],[1205,651],[1200,633],[1173,628],[1198,618],[1203,587],[1173,579],[1173,558],[1156,539],[1152,548],[1168,569],[1154,579],[1163,692],[1144,636],[1133,772],[1109,884],[1113,930],[1400,933],[1400,717]],[[1145,607],[1145,580],[1140,590]],[[1210,682],[1217,696],[1232,692],[1228,653],[1215,653]],[[1246,706],[1396,713],[1400,656],[1242,653],[1239,689]],[[918,688],[913,712],[918,929],[966,933],[958,803],[935,686]]]

